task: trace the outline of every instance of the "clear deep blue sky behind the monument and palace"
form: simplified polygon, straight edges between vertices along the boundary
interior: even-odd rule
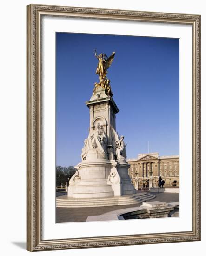
[[[97,53],[116,52],[108,69],[120,112],[116,130],[125,136],[127,158],[179,154],[179,39],[56,33],[56,163],[81,162],[88,136],[88,101]]]

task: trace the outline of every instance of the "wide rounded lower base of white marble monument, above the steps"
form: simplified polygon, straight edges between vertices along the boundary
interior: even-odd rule
[[[68,187],[68,197],[94,198],[135,194],[128,175],[129,164],[118,164],[115,160],[82,161],[75,168],[74,182]]]

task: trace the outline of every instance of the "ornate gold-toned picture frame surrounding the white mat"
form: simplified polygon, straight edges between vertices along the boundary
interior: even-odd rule
[[[192,26],[192,230],[44,240],[42,237],[42,18],[83,18]],[[53,174],[55,175],[55,174]],[[74,224],[75,225],[75,224]],[[158,230],[157,230],[158,231]],[[71,230],[72,232],[72,230]],[[78,249],[200,240],[200,15],[27,6],[27,250]]]

